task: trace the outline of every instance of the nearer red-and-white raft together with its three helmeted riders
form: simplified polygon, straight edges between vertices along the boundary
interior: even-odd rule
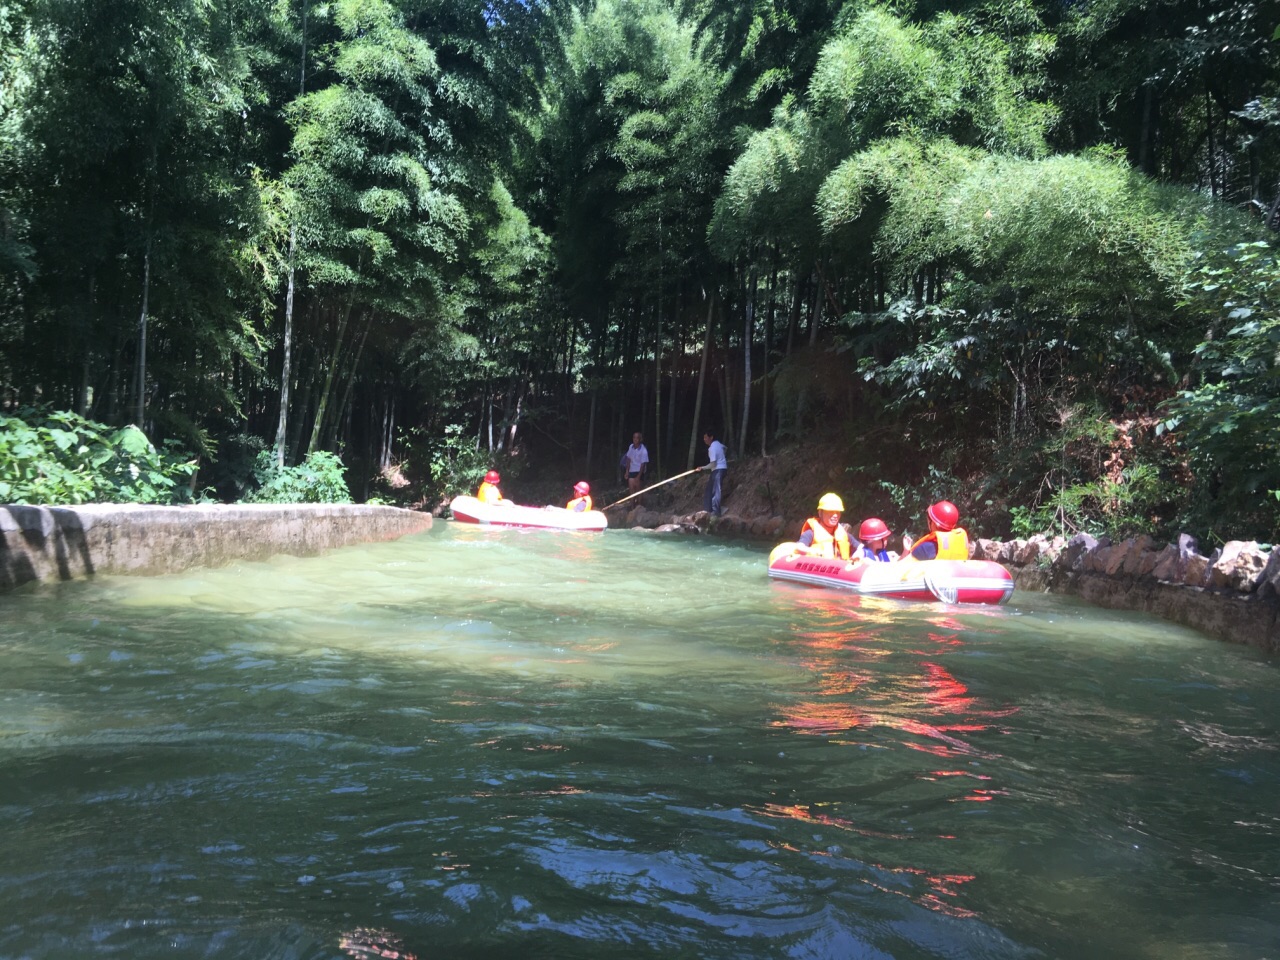
[[[905,539],[901,557],[887,549],[884,521],[869,517],[854,539],[840,522],[842,511],[840,497],[823,494],[818,516],[805,521],[800,539],[769,553],[769,577],[899,600],[998,604],[1014,593],[1012,573],[969,558],[969,535],[950,500],[929,506],[929,532]]]

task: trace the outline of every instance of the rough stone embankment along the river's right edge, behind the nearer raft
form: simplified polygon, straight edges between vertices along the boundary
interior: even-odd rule
[[[707,513],[666,517],[636,508],[611,524],[654,532],[710,532],[762,541],[790,539],[783,517],[744,520]],[[1075,594],[1110,609],[1142,611],[1210,636],[1280,653],[1280,549],[1231,540],[1208,556],[1196,539],[1121,543],[1079,534],[1027,540],[975,540],[973,557],[1002,563],[1019,590]]]

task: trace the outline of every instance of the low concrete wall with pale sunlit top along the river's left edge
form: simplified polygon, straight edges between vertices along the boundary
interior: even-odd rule
[[[355,504],[0,506],[0,590],[32,580],[302,556],[430,527],[429,513]]]

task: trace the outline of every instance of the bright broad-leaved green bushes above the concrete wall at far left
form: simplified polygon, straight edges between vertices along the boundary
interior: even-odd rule
[[[178,503],[195,472],[189,454],[156,451],[132,425],[31,408],[0,417],[3,503]]]

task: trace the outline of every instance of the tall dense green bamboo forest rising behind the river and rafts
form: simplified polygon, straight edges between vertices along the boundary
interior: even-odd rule
[[[227,499],[323,453],[357,498],[605,481],[636,429],[671,475],[710,426],[902,517],[1276,539],[1277,31],[0,0],[0,402],[133,424]]]

